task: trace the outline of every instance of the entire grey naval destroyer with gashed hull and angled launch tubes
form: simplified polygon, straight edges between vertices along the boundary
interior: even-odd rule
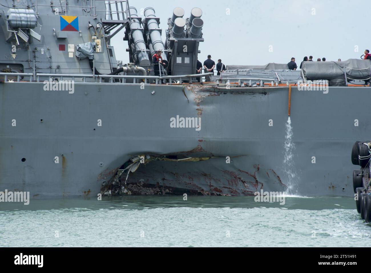
[[[128,1],[0,3],[0,191],[353,195],[348,150],[371,129],[369,60],[197,74],[197,7],[160,24]]]

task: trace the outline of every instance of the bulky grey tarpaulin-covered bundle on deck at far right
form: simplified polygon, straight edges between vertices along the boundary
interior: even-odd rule
[[[329,85],[341,85],[340,82],[345,84],[344,69],[348,81],[365,80],[370,78],[370,65],[370,60],[362,59],[348,59],[343,62],[303,62],[302,74],[307,80],[329,80]]]

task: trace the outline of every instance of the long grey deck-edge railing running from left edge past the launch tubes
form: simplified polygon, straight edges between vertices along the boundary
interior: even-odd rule
[[[154,80],[155,84],[159,84],[162,80],[168,80],[168,84],[172,84],[174,81],[188,81],[190,83],[197,82],[197,78],[202,82],[202,77],[211,76],[213,73],[201,73],[201,74],[190,74],[190,75],[168,75],[168,76],[149,76],[149,75],[93,75],[93,74],[60,74],[60,73],[6,73],[0,72],[0,77],[4,77],[4,82],[44,82],[45,80],[54,81],[58,80],[73,80],[82,79],[79,83],[118,83],[118,84],[129,84],[125,83],[125,79],[133,80],[133,83],[140,84],[151,83]],[[9,79],[9,77],[11,79]],[[16,79],[13,79],[15,78]],[[93,79],[93,81],[86,82],[86,79]],[[108,82],[105,82],[108,79]],[[122,79],[123,82],[116,82],[115,79]],[[196,79],[196,80],[194,80]]]

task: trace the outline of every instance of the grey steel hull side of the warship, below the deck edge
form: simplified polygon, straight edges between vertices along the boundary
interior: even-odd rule
[[[369,90],[330,87],[324,94],[293,89],[296,149],[289,171],[296,172],[296,193],[353,194],[349,174],[357,167],[349,151],[371,129],[368,102],[359,100]],[[44,91],[42,83],[14,82],[1,83],[0,92],[0,191],[29,191],[34,198],[96,196],[124,162],[139,154],[213,158],[140,165],[128,177],[132,194],[253,195],[288,186],[285,87],[141,89],[75,83],[69,94]],[[170,119],[177,115],[200,117],[201,129],[171,128]]]

